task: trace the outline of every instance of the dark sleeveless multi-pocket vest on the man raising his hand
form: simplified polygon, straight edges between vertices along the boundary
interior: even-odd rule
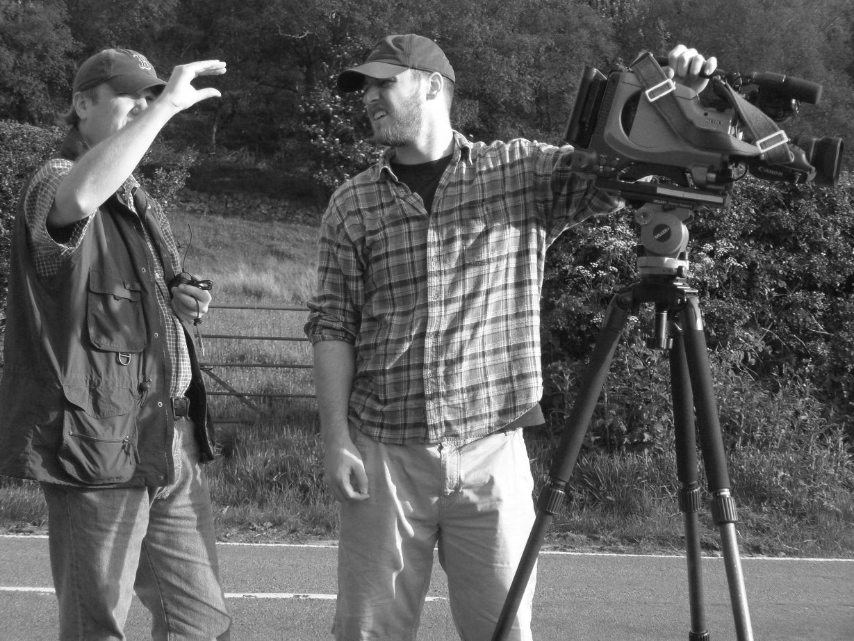
[[[75,134],[61,152],[72,160]],[[22,202],[9,268],[0,473],[70,485],[167,485],[172,372],[152,265],[160,257],[149,252],[143,225],[168,282],[173,267],[161,230],[114,195],[60,272],[40,279]],[[195,349],[184,334],[193,370],[190,418],[207,461],[213,433]]]

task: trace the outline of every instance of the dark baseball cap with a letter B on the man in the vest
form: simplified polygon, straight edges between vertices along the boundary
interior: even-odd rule
[[[80,65],[74,76],[73,92],[86,91],[108,82],[119,93],[136,93],[150,87],[163,87],[148,58],[130,49],[105,49]]]

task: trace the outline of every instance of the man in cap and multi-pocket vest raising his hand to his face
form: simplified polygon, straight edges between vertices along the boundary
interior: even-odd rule
[[[41,484],[61,641],[124,639],[132,595],[154,639],[228,639],[202,462],[205,388],[185,324],[210,293],[178,284],[164,210],[134,168],[201,100],[190,62],[157,77],[110,49],[74,79],[59,155],[21,191],[12,240],[0,473]],[[189,326],[189,325],[188,325]]]

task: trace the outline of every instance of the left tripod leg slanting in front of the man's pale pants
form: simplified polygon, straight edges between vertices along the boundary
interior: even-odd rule
[[[552,468],[549,470],[548,485],[543,488],[537,501],[534,526],[531,528],[510,590],[507,592],[504,607],[501,609],[495,626],[493,641],[503,641],[507,638],[513,620],[516,619],[519,603],[522,602],[530,575],[534,571],[542,538],[545,536],[553,516],[557,514],[564,502],[564,487],[570,478],[572,469],[575,468],[578,453],[582,449],[584,435],[590,426],[590,419],[593,417],[602,386],[605,385],[605,378],[607,378],[608,370],[611,368],[614,351],[617,350],[617,343],[623,333],[623,326],[629,318],[631,302],[630,290],[619,292],[611,298],[611,303],[605,312],[605,321],[600,328],[599,337],[596,338],[588,366],[584,370],[581,389],[578,392],[578,397],[576,397],[576,402],[572,405],[558,450],[554,454]]]

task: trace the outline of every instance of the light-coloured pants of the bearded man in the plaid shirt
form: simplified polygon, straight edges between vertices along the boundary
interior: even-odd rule
[[[522,429],[465,445],[388,445],[354,432],[365,501],[342,503],[338,641],[412,641],[433,550],[447,574],[459,638],[492,638],[534,524]],[[534,569],[508,638],[530,641]]]

